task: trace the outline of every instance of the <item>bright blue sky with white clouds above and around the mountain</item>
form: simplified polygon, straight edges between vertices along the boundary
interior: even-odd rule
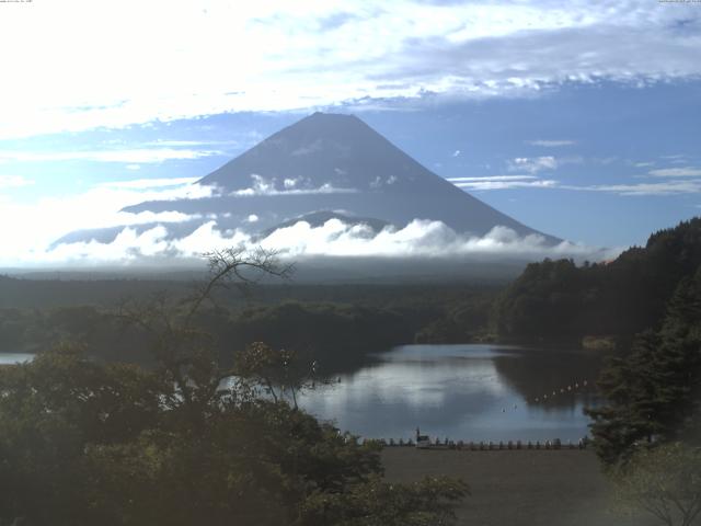
[[[317,110],[571,241],[701,211],[701,3],[241,3],[0,4],[0,263]]]

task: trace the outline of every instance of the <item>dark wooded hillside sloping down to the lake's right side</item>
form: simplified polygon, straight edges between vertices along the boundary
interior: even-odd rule
[[[503,338],[630,336],[656,327],[677,284],[701,265],[701,218],[653,233],[608,263],[529,264],[495,305]]]

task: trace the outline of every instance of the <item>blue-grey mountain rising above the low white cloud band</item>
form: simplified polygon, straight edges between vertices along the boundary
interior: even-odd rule
[[[198,184],[214,187],[214,196],[145,202],[124,211],[191,215],[189,221],[168,225],[172,239],[187,236],[215,217],[221,232],[240,229],[261,236],[314,213],[327,213],[343,222],[375,221],[397,228],[415,219],[441,221],[469,236],[484,236],[496,226],[519,236],[540,233],[436,175],[352,115],[314,113],[227,162]],[[142,225],[137,230],[153,226]],[[119,231],[73,232],[58,242],[110,242]],[[548,243],[560,241],[541,236]]]

